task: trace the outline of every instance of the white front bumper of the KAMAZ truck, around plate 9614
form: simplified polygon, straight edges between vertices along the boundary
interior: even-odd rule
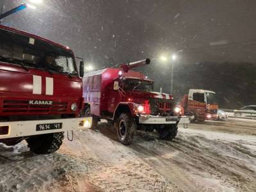
[[[36,131],[36,125],[61,124],[61,129]],[[53,120],[31,120],[19,122],[0,122],[0,140],[8,138],[19,138],[38,134],[53,132],[64,132],[92,127],[92,117],[85,118],[61,118]]]

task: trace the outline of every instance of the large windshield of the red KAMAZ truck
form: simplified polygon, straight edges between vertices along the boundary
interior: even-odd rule
[[[77,76],[72,52],[3,29],[0,36],[0,61]]]

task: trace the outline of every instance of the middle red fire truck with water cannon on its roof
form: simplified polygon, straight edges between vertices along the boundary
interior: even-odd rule
[[[103,68],[84,74],[83,115],[113,122],[118,139],[124,145],[132,143],[136,129],[156,131],[159,137],[172,140],[177,135],[180,116],[173,112],[173,96],[153,92],[153,81],[140,72],[130,70],[148,65],[150,60],[122,64],[120,68]],[[175,109],[177,113],[180,108]],[[182,118],[182,122],[189,122]]]

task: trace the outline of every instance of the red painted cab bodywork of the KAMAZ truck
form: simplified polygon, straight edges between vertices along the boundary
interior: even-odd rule
[[[6,26],[0,26],[0,29],[6,29],[7,31],[13,31],[24,36],[42,40],[47,42],[47,44],[61,47],[61,49],[65,49],[65,51],[74,55],[67,47],[41,38],[40,36]],[[53,79],[54,81],[52,81]],[[46,81],[48,82],[46,83]],[[33,94],[35,89],[39,90],[40,93]],[[77,103],[78,109],[81,109],[83,106],[81,95],[82,81],[78,75],[73,76],[72,79],[63,74],[54,74],[52,76],[45,70],[29,68],[29,71],[26,71],[19,65],[0,61],[0,116],[10,116],[13,114],[26,116],[74,114],[78,116],[79,110],[71,111],[70,106],[72,103]],[[39,108],[36,105],[29,105],[28,101],[31,99],[52,100],[53,104],[49,108],[45,108],[44,105],[40,105],[42,108]]]

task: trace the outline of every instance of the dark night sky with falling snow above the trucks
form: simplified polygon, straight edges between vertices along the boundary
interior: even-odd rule
[[[21,2],[29,1],[1,0],[5,10]],[[44,0],[36,6],[3,24],[67,45],[97,67],[173,52],[185,64],[256,63],[255,0]]]

